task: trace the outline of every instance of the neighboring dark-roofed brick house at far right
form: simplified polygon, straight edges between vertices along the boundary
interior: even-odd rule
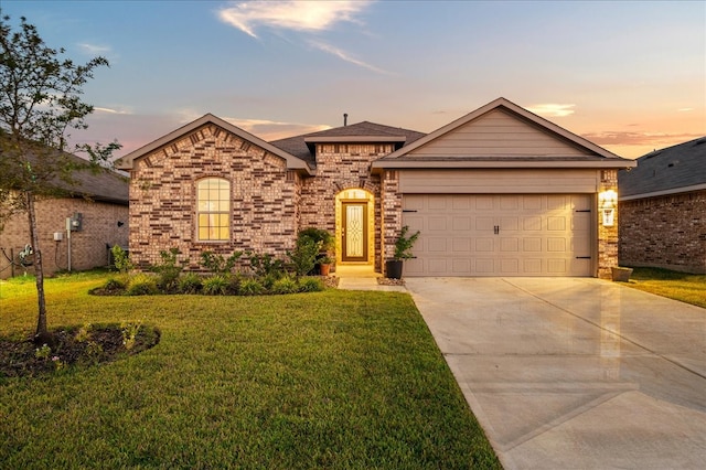
[[[706,273],[706,137],[619,173],[620,263]]]

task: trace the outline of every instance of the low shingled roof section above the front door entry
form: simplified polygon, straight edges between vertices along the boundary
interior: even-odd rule
[[[272,140],[270,143],[314,165],[315,143],[394,142],[396,145],[395,148],[399,149],[424,136],[424,132],[417,132],[416,130],[365,120],[350,126],[334,127],[302,136]]]

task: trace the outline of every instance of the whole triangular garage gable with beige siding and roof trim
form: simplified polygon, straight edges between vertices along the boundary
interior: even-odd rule
[[[502,121],[501,126],[498,121]],[[518,130],[522,132],[517,133]],[[528,140],[522,141],[525,137]],[[502,97],[373,162],[378,170],[633,165],[632,160],[620,158]]]

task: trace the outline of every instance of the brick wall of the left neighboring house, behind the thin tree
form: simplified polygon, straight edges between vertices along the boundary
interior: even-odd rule
[[[66,217],[75,212],[83,215],[83,229],[71,235],[72,270],[84,270],[108,265],[106,245],[128,246],[128,206],[104,202],[90,202],[83,199],[54,199],[36,203],[36,224],[40,233],[40,248],[44,275],[51,276],[57,270],[68,267],[68,241],[66,237]],[[122,222],[122,226],[118,226]],[[61,232],[63,239],[54,242],[54,232]],[[0,247],[8,256],[10,250],[17,254],[31,244],[28,227],[28,215],[21,213],[12,216],[0,233]],[[12,276],[7,258],[0,254],[0,278]],[[25,271],[15,266],[14,275]],[[26,269],[33,274],[34,268]]]

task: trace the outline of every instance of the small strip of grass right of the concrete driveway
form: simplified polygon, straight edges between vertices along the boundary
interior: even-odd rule
[[[706,308],[706,275],[660,268],[634,268],[625,284],[645,292]]]

